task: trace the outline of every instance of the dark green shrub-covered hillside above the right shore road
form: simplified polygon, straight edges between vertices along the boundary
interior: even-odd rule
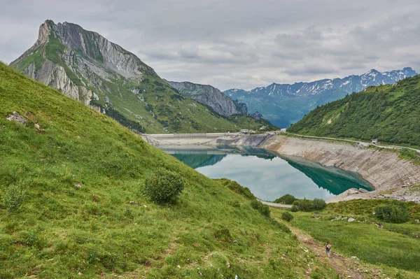
[[[420,76],[368,87],[320,106],[288,131],[420,146]]]

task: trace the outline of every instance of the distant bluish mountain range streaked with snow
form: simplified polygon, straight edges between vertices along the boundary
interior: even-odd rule
[[[360,92],[369,86],[393,84],[416,75],[416,71],[409,67],[382,73],[372,69],[360,76],[293,85],[272,83],[267,87],[256,87],[250,91],[226,90],[225,94],[246,103],[250,112],[258,110],[272,124],[283,128],[302,119],[317,106],[342,99],[346,94]]]

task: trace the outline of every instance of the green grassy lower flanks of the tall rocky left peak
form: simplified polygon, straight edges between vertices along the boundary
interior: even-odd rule
[[[90,38],[90,33],[92,32],[83,32],[85,42],[94,42],[94,38]],[[85,78],[80,73],[71,71],[67,65],[69,62],[64,62],[64,50],[66,46],[60,43],[54,34],[51,34],[45,47],[40,47],[31,55],[18,59],[12,66],[23,71],[29,64],[34,64],[37,70],[45,59],[50,59],[53,63],[64,67],[67,76],[75,85],[84,86],[82,80],[87,83]],[[78,50],[67,49],[66,51],[73,51],[73,61],[77,61],[76,57],[82,55]],[[90,48],[87,47],[87,51],[94,53],[91,53],[89,57],[84,56],[84,59],[89,59],[99,65],[103,63],[103,57],[100,52],[97,53],[97,47],[91,45]],[[94,73],[90,77],[93,80],[100,80],[99,84],[102,85],[100,88],[88,87],[101,99],[101,101],[95,101],[94,104],[105,108],[104,100],[107,96],[114,110],[127,117],[128,120],[139,122],[148,134],[165,133],[165,129],[169,132],[182,133],[239,131],[240,129],[258,129],[262,125],[269,126],[269,129],[276,129],[265,121],[256,121],[246,115],[238,117],[218,115],[207,106],[193,99],[184,98],[159,76],[148,71],[142,83],[124,78],[113,71],[109,73],[114,76],[111,81]],[[146,103],[132,92],[134,88],[141,90]]]

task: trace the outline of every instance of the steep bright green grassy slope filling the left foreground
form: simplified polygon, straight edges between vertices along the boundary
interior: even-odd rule
[[[0,203],[0,278],[302,278],[308,264],[336,277],[244,196],[4,64],[0,116],[0,201],[27,193],[11,215]],[[174,206],[141,194],[158,166],[186,180]]]

